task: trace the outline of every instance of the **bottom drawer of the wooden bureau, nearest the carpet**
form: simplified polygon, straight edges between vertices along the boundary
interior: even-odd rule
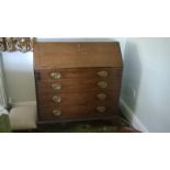
[[[88,120],[116,114],[117,109],[110,105],[71,105],[65,107],[42,106],[38,109],[39,121]]]

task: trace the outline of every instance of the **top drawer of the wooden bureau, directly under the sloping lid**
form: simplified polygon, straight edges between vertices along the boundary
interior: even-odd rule
[[[36,70],[37,81],[59,81],[80,79],[121,79],[122,69],[114,68],[72,68],[72,69],[46,69]]]

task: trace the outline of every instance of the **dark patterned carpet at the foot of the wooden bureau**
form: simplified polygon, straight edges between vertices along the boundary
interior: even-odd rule
[[[122,116],[116,123],[110,121],[91,121],[77,123],[63,123],[44,125],[36,129],[37,133],[137,133]]]

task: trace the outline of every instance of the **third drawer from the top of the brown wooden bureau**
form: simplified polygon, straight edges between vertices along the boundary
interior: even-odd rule
[[[41,93],[37,97],[38,104],[42,106],[56,106],[56,105],[75,105],[75,104],[103,104],[112,103],[117,104],[118,92],[87,92],[87,93]],[[116,103],[116,104],[115,104]]]

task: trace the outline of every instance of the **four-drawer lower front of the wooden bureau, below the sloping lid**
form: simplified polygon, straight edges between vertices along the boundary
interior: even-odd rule
[[[36,70],[39,121],[112,116],[118,110],[121,69]]]

